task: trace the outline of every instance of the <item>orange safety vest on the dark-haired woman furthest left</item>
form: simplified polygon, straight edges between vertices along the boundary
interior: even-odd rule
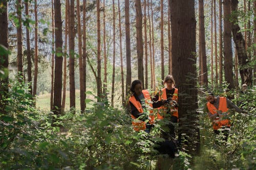
[[[155,117],[154,117],[154,114],[153,114],[153,105],[152,105],[152,102],[151,102],[150,93],[147,90],[142,90],[142,93],[144,95],[145,104],[149,105],[152,108],[152,109],[150,109],[150,115],[149,115],[150,120],[148,122],[150,124],[154,124]],[[135,99],[134,95],[130,97],[129,101],[137,108],[137,110],[140,113],[143,113],[143,108],[142,108],[140,102]],[[146,129],[146,123],[145,122],[143,122],[142,120],[137,119],[132,114],[131,114],[131,116],[133,118],[132,125],[133,125],[133,128],[134,128],[135,131],[140,131],[140,130],[145,130]]]

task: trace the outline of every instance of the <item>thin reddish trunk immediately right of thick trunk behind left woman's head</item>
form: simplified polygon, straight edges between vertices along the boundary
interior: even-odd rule
[[[147,73],[147,31],[146,31],[146,1],[144,0],[144,43],[145,43],[145,89],[148,87]]]

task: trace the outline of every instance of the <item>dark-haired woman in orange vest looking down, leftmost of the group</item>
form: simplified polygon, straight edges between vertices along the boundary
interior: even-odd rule
[[[144,130],[150,133],[154,124],[153,105],[150,93],[142,90],[142,82],[134,80],[131,85],[132,95],[129,99],[131,107],[132,125],[135,131]]]

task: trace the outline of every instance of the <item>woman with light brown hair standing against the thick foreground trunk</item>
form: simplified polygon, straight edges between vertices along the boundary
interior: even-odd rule
[[[167,75],[164,79],[164,86],[159,94],[155,95],[153,101],[159,101],[157,106],[159,112],[157,114],[158,119],[167,118],[168,132],[163,132],[162,137],[168,139],[168,137],[175,138],[175,126],[174,123],[178,123],[178,89],[175,88],[175,81],[172,75]]]

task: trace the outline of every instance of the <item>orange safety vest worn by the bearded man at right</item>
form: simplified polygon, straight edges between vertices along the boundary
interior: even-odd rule
[[[207,108],[211,114],[216,114],[217,110],[222,111],[222,113],[227,112],[228,108],[227,108],[226,98],[220,97],[219,109],[216,109],[216,107],[214,105],[210,104],[209,102],[207,102]],[[229,114],[229,113],[227,113],[227,114]],[[222,126],[230,127],[230,121],[228,119],[222,119],[221,115],[220,115],[219,118],[214,119],[214,122],[212,122],[212,127],[214,128],[214,130],[218,130]]]

